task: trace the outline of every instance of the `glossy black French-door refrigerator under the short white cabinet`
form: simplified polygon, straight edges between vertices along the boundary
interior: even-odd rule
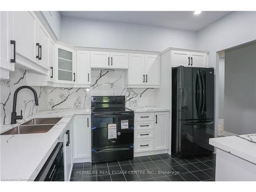
[[[214,68],[172,69],[172,152],[211,154],[214,147]]]

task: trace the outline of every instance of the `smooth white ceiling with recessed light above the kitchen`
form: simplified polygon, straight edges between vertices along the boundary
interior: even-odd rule
[[[230,11],[61,11],[61,16],[198,31]]]

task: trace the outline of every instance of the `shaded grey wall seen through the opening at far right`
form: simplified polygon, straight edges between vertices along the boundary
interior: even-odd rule
[[[225,51],[224,130],[256,133],[256,42]]]

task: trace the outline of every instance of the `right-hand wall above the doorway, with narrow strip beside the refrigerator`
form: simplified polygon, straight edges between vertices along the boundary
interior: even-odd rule
[[[197,33],[197,48],[209,50],[209,66],[216,67],[215,118],[217,121],[219,117],[219,66],[216,66],[216,63],[219,62],[219,56],[216,52],[254,39],[256,39],[255,11],[231,12]],[[215,124],[215,136],[218,136],[218,123]]]

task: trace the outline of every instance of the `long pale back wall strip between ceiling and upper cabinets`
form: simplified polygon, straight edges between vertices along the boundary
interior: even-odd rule
[[[61,41],[73,46],[163,51],[168,47],[195,48],[196,32],[62,17]]]

